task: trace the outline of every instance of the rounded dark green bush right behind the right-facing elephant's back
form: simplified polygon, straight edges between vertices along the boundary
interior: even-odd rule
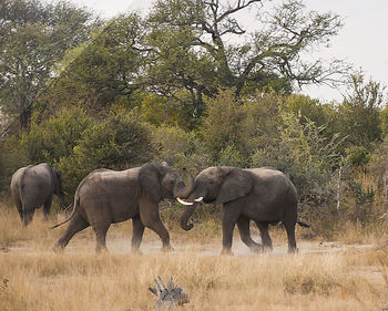
[[[116,108],[83,131],[73,153],[61,157],[57,166],[64,188],[74,191],[96,168],[126,169],[149,162],[152,155],[149,127],[135,114]]]

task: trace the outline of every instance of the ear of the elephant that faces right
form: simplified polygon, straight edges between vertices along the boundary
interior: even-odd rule
[[[154,164],[145,164],[140,169],[139,176],[142,189],[150,195],[153,201],[159,203],[162,199],[159,167]]]

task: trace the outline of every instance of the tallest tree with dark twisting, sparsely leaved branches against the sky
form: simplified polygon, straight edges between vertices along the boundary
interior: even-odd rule
[[[265,0],[159,0],[147,20],[152,53],[152,87],[197,111],[203,94],[217,87],[263,91],[270,85],[283,92],[308,83],[335,84],[346,70],[341,61],[325,68],[302,53],[327,45],[341,28],[331,13],[306,12],[300,0],[288,0],[265,11]],[[255,11],[255,28],[247,32],[237,13]]]

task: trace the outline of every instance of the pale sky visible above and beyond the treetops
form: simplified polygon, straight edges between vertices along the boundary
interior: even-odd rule
[[[88,7],[103,18],[137,10],[146,11],[152,0],[71,0]],[[318,12],[334,12],[345,22],[331,48],[317,52],[325,59],[343,59],[361,69],[367,79],[388,86],[388,1],[387,0],[304,0],[306,8]],[[344,89],[305,87],[303,93],[324,102],[340,101]],[[387,94],[388,90],[386,90]]]

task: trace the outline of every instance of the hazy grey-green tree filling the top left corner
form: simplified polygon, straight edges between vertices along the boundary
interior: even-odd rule
[[[32,103],[53,75],[64,52],[88,40],[99,24],[91,12],[68,2],[37,0],[0,3],[0,106],[29,126]]]

